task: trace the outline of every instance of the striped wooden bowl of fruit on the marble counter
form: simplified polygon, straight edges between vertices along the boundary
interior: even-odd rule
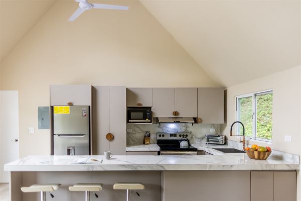
[[[269,155],[272,152],[270,147],[262,147],[257,145],[246,147],[245,151],[251,159],[256,159],[256,160],[265,160],[269,157]]]

